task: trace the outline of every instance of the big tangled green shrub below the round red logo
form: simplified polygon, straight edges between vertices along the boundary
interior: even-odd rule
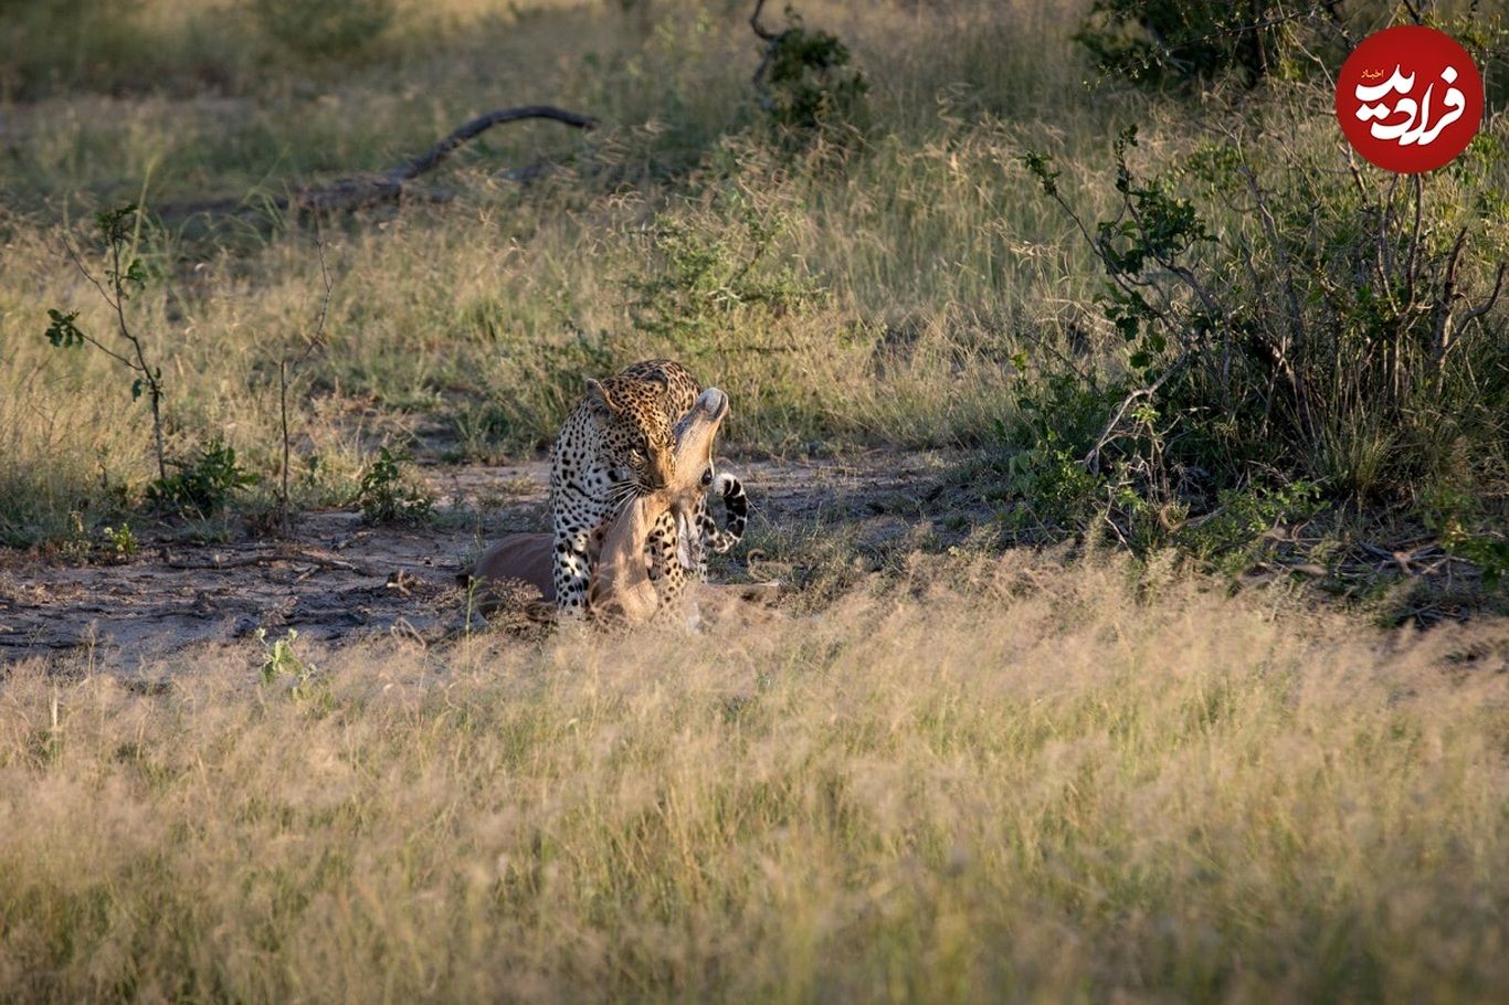
[[[1197,420],[1183,459],[1218,483],[1259,462],[1337,498],[1388,499],[1441,474],[1447,436],[1501,451],[1509,340],[1488,255],[1504,241],[1468,243],[1458,184],[1434,183],[1435,198],[1418,178],[1369,190],[1251,140],[1212,142],[1144,180],[1135,145],[1135,130],[1117,145],[1117,216],[1079,225],[1136,394]],[[1073,216],[1052,166],[1025,160]],[[1172,195],[1180,184],[1213,198],[1219,231]],[[1108,421],[1102,447],[1135,453]]]

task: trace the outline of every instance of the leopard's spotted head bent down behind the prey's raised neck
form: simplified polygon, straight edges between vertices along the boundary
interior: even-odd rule
[[[640,493],[664,489],[676,472],[668,383],[658,370],[646,377],[587,382],[587,401],[602,432],[602,454],[611,477]]]

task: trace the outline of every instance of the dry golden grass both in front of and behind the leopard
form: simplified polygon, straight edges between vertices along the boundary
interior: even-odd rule
[[[42,338],[50,306],[109,330],[59,238],[143,190],[257,204],[527,101],[604,121],[489,133],[432,178],[453,201],[320,231],[327,347],[293,394],[296,502],[318,506],[350,498],[380,441],[528,454],[585,376],[649,355],[730,394],[735,448],[999,442],[1034,374],[1126,356],[1097,264],[1017,157],[1050,152],[1096,220],[1118,127],[1142,122],[1138,168],[1163,171],[1201,113],[1080,88],[1077,14],[1050,0],[801,0],[871,81],[847,155],[825,145],[842,137],[791,154],[761,131],[732,0],[401,3],[370,50],[321,65],[258,35],[241,0],[78,3],[104,14],[0,26],[59,68],[0,68],[5,545],[131,512],[154,474],[128,377]],[[1296,148],[1340,171],[1329,109],[1271,97],[1304,118]],[[1495,112],[1489,136],[1506,128]],[[558,169],[495,175],[536,160]],[[1473,172],[1432,198],[1492,232],[1509,158]],[[753,272],[800,290],[791,309],[724,297],[675,346],[635,327],[635,284],[668,273],[653,228],[742,264],[745,211],[774,232]],[[323,290],[312,229],[273,217],[151,234],[130,305],[163,364],[169,453],[225,436],[264,477],[276,361]],[[1501,442],[1462,444],[1501,474]],[[1504,622],[1385,634],[1157,560],[892,549],[865,578],[856,527],[764,534],[804,589],[721,635],[297,640],[279,668],[318,672],[296,688],[260,682],[255,643],[137,679],[88,656],[8,668],[0,1000],[1509,985]]]

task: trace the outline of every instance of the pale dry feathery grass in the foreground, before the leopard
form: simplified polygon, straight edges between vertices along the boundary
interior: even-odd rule
[[[303,697],[20,667],[0,997],[1491,1000],[1506,644],[1013,552]]]

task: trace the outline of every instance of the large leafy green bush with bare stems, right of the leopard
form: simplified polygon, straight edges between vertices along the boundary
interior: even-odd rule
[[[1305,86],[1296,104],[1319,119],[1325,97]],[[1126,355],[1120,383],[1091,400],[1088,432],[1082,409],[1040,395],[1052,420],[1025,423],[1037,453],[1022,463],[1076,463],[1091,475],[1079,495],[1133,545],[1240,509],[1233,492],[1268,513],[1259,522],[1305,510],[1316,492],[1415,521],[1435,486],[1482,493],[1509,469],[1497,143],[1483,137],[1429,178],[1372,183],[1246,115],[1150,174],[1132,166],[1136,130],[1124,133],[1115,213],[1102,220],[1076,213],[1049,158],[1023,155],[1099,258],[1099,308]],[[1240,524],[1189,543],[1231,548],[1254,528]],[[1495,542],[1443,530],[1485,567]]]

